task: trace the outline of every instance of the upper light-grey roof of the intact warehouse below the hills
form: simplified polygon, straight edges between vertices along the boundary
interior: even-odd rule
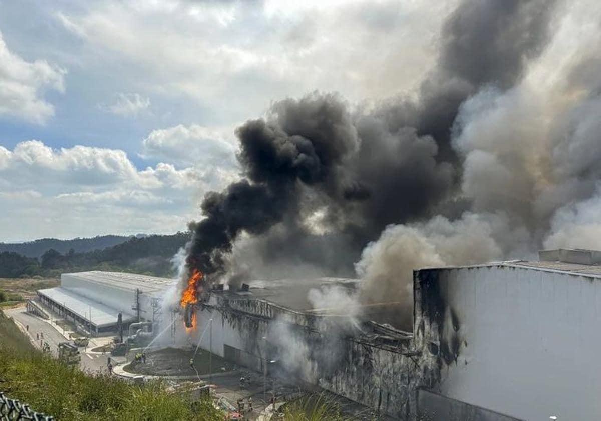
[[[169,286],[177,283],[170,278],[159,278],[156,276],[131,274],[127,272],[87,271],[62,274],[63,276],[76,277],[88,282],[108,284],[112,287],[133,291],[140,289],[142,292],[157,295]]]

